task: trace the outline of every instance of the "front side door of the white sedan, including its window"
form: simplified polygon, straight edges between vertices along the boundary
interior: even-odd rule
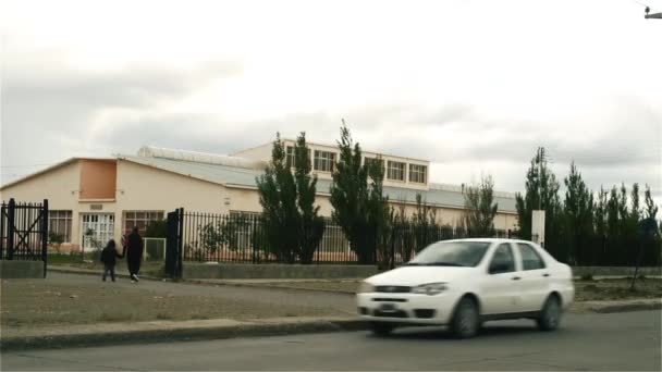
[[[481,285],[482,313],[503,314],[519,311],[519,281],[515,255],[510,244],[494,249],[488,264],[488,273]]]

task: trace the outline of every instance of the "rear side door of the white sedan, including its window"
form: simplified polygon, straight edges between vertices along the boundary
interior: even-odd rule
[[[550,293],[551,272],[534,246],[516,246],[522,259],[522,311],[538,311]]]

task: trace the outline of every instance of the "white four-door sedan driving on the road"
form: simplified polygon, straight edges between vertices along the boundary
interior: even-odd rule
[[[528,318],[559,326],[575,288],[568,265],[540,246],[514,239],[434,243],[397,269],[364,281],[358,313],[376,334],[397,325],[448,325],[458,337],[486,321]]]

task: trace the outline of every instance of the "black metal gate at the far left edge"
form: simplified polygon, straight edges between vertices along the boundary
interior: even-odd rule
[[[0,260],[44,261],[48,252],[48,200],[16,203],[10,199],[0,207]]]

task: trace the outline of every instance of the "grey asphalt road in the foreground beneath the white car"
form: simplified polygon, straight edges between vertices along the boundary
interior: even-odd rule
[[[557,332],[488,323],[474,339],[409,328],[86,349],[14,351],[8,370],[602,370],[660,371],[661,312],[568,314]]]

